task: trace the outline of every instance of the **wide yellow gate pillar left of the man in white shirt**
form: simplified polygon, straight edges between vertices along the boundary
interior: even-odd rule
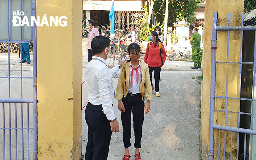
[[[38,0],[37,16],[66,16],[67,26],[37,27],[38,160],[81,155],[82,1]]]

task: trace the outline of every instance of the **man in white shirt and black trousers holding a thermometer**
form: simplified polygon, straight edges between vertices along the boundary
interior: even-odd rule
[[[110,40],[104,36],[96,36],[91,46],[94,56],[85,71],[89,90],[89,103],[85,109],[85,120],[88,125],[85,160],[107,160],[111,134],[119,131],[119,123],[112,107],[112,77],[117,74],[125,60],[119,58],[118,65],[108,69],[106,59],[111,51]]]

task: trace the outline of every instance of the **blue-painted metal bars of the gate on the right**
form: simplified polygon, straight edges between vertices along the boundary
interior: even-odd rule
[[[209,153],[208,153],[208,160],[213,160],[214,158],[214,129],[218,130],[219,133],[219,139],[218,139],[218,160],[220,159],[220,140],[221,140],[221,131],[224,131],[224,150],[223,150],[223,159],[225,160],[225,154],[226,154],[226,136],[227,132],[231,132],[231,142],[230,142],[230,160],[232,160],[232,145],[233,145],[233,134],[234,132],[237,133],[237,160],[239,158],[239,134],[242,133],[244,134],[244,155],[243,159],[245,160],[246,158],[246,139],[247,139],[247,134],[248,138],[250,139],[249,145],[250,147],[250,159],[252,160],[252,153],[253,153],[253,135],[256,135],[256,130],[253,130],[253,121],[254,121],[254,96],[255,96],[255,70],[256,70],[256,34],[255,34],[255,41],[254,41],[254,60],[253,62],[242,62],[242,47],[243,47],[243,31],[247,30],[256,30],[256,26],[244,26],[244,13],[242,13],[242,18],[239,18],[241,20],[240,25],[241,26],[234,26],[230,22],[234,18],[231,18],[231,14],[228,14],[228,21],[227,24],[224,26],[218,26],[218,17],[217,13],[213,13],[213,31],[212,31],[212,41],[211,41],[211,50],[212,50],[212,55],[211,55],[211,99],[210,99],[210,128],[209,128]],[[224,20],[224,19],[223,19]],[[235,19],[236,20],[236,19]],[[249,19],[248,19],[249,20]],[[234,21],[233,21],[234,22]],[[254,23],[255,24],[255,23]],[[240,46],[240,62],[229,62],[229,42],[230,42],[230,31],[241,31],[241,46]],[[228,42],[227,42],[227,62],[220,62],[216,61],[216,48],[217,48],[217,31],[228,31]],[[215,83],[216,83],[216,64],[222,63],[222,64],[227,64],[227,71],[226,71],[226,94],[225,96],[216,96],[215,95]],[[228,97],[228,68],[229,64],[240,64],[240,75],[239,75],[239,98],[236,97]],[[241,98],[241,73],[242,73],[242,64],[253,64],[253,94],[252,98]],[[225,110],[217,110],[215,109],[215,98],[225,98]],[[239,108],[238,112],[232,112],[227,110],[227,103],[228,99],[237,99],[239,100]],[[245,101],[251,101],[251,114],[250,113],[244,113],[240,112],[240,101],[245,100]],[[214,112],[225,112],[225,126],[217,125],[214,124]],[[230,127],[227,126],[227,114],[228,113],[236,113],[238,114],[238,127]],[[251,115],[251,129],[244,129],[240,128],[240,114],[244,115]],[[241,157],[240,157],[241,158]]]

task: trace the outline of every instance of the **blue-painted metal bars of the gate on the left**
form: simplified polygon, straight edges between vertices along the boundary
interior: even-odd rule
[[[34,27],[31,27],[31,38],[33,40],[33,77],[23,77],[23,69],[22,69],[22,43],[28,43],[29,40],[22,40],[22,27],[20,27],[20,40],[11,40],[10,39],[10,0],[7,0],[7,40],[0,40],[0,42],[3,43],[8,43],[8,76],[1,76],[0,79],[8,79],[8,98],[0,98],[0,103],[2,103],[2,116],[3,116],[3,159],[12,159],[12,138],[15,140],[15,159],[18,159],[18,139],[21,140],[21,152],[22,152],[22,160],[24,158],[26,159],[31,159],[30,158],[30,135],[29,131],[33,130],[33,159],[37,160],[37,84],[36,84],[36,75],[37,75],[37,45],[36,45],[36,25],[34,22]],[[22,0],[20,0],[20,12],[22,11]],[[31,0],[31,15],[36,18],[36,0]],[[22,16],[20,16],[22,18]],[[21,50],[21,73],[20,76],[11,76],[10,74],[10,43],[20,43],[20,50]],[[11,79],[20,79],[21,80],[21,98],[11,98]],[[32,85],[33,85],[33,98],[23,98],[23,79],[31,79],[32,80]],[[7,104],[5,104],[7,103]],[[24,107],[23,107],[24,103]],[[29,104],[33,103],[33,127],[29,126]],[[18,107],[17,105],[20,105]],[[8,106],[8,109],[7,109]],[[21,111],[20,117],[21,117],[21,126],[18,126],[18,118],[17,118],[17,109]],[[26,108],[26,123],[27,125],[24,126],[24,108]],[[32,108],[31,108],[32,109]],[[14,111],[14,112],[13,112]],[[5,113],[9,112],[9,117],[7,120],[7,117],[5,116]],[[12,121],[12,118],[14,117],[14,121]],[[9,122],[9,127],[6,127],[6,122]],[[14,123],[14,125],[12,124]],[[6,156],[6,136],[5,130],[9,130],[9,157]],[[28,157],[24,156],[24,130],[27,130],[27,154]],[[13,137],[12,137],[12,131]],[[21,138],[19,138],[19,132],[21,132]]]

